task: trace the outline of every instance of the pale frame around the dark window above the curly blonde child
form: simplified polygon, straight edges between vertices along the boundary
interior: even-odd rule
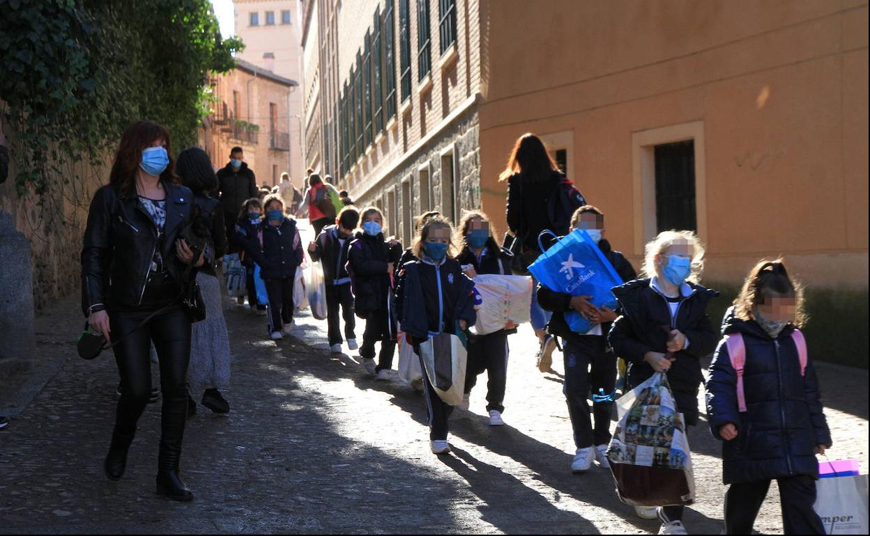
[[[692,140],[695,151],[695,216],[698,236],[707,240],[706,149],[704,122],[684,122],[632,133],[632,194],[634,202],[634,255],[656,235],[655,146]]]

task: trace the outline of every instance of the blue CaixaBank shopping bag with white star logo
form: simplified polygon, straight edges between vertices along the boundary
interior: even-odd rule
[[[541,235],[548,233],[545,231]],[[615,309],[616,297],[611,288],[623,283],[598,244],[583,229],[576,229],[558,239],[532,263],[529,272],[555,292],[592,296],[590,301],[597,308],[607,306]],[[574,333],[585,334],[594,327],[576,311],[566,313],[565,321]]]

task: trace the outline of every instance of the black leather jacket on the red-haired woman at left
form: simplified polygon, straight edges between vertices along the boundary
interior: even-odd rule
[[[184,263],[175,241],[191,221],[193,193],[184,186],[163,182],[166,224],[161,246],[165,266],[184,288]],[[157,228],[139,205],[136,195],[121,195],[104,186],[97,190],[88,212],[82,248],[82,311],[137,308],[142,303],[151,260],[157,248]],[[191,274],[191,277],[193,275]]]

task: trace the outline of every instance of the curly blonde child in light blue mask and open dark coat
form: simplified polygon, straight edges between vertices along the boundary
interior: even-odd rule
[[[698,424],[700,359],[712,354],[719,341],[706,314],[707,303],[719,293],[698,284],[703,268],[704,248],[694,233],[659,234],[646,244],[647,279],[613,289],[622,315],[608,336],[613,352],[631,362],[629,387],[638,387],[654,373],[667,373],[677,410],[691,426]],[[684,510],[635,506],[639,517],[661,520],[660,534],[685,534]]]

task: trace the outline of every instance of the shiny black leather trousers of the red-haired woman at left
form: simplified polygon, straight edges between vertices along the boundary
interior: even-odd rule
[[[169,282],[149,283],[140,308],[110,311],[112,340],[124,337],[149,314],[177,301],[177,293],[177,287]],[[191,320],[180,305],[157,314],[115,347],[124,388],[117,403],[113,440],[130,444],[151,396],[151,341],[160,361],[163,392],[158,471],[177,470],[187,414],[187,365],[191,360]]]

